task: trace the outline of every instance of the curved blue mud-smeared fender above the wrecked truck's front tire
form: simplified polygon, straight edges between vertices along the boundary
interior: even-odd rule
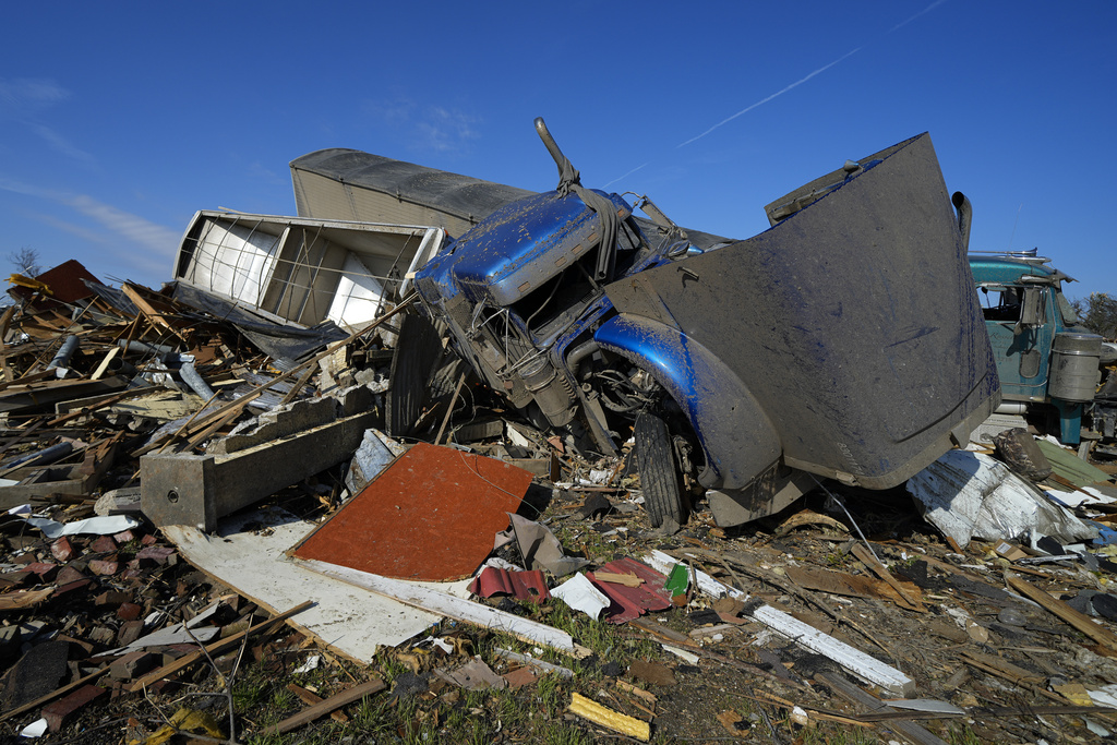
[[[775,427],[745,384],[678,328],[620,314],[594,333],[602,350],[650,373],[684,411],[706,456],[706,488],[738,489],[780,458]]]

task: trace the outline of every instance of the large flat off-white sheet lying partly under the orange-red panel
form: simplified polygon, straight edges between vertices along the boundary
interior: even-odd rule
[[[249,523],[256,523],[255,529],[245,529]],[[381,646],[400,644],[441,620],[293,563],[284,552],[313,527],[281,509],[261,509],[221,520],[214,536],[181,525],[163,533],[191,564],[273,612],[313,601],[288,623],[352,660],[370,662]],[[466,596],[466,585],[442,586]]]

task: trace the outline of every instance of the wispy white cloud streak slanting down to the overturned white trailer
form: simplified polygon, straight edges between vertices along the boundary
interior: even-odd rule
[[[90,231],[88,228],[70,226],[66,228],[69,232],[80,235],[83,238],[96,240],[97,242],[118,246],[121,239],[128,241],[132,247],[145,249],[150,254],[160,257],[160,261],[166,261],[174,256],[178,250],[180,233],[164,226],[152,222],[145,218],[112,204],[106,204],[86,194],[75,194],[55,189],[44,189],[34,184],[27,184],[11,179],[0,176],[0,189],[28,197],[48,200],[56,204],[61,204],[74,210],[95,223],[101,226],[106,233]],[[66,222],[66,225],[70,225]],[[150,256],[149,256],[150,258]]]

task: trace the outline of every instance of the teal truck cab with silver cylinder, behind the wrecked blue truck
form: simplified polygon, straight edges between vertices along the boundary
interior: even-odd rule
[[[1117,395],[1098,391],[1110,350],[1063,296],[1073,280],[1034,250],[968,258],[1001,379],[997,411],[1039,418],[1066,445],[1081,441],[1083,424],[1092,439],[1111,439]]]

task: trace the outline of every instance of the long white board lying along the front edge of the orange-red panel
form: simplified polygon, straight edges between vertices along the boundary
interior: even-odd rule
[[[471,600],[456,598],[424,584],[393,580],[315,560],[305,560],[299,564],[324,576],[341,580],[370,593],[385,595],[407,605],[486,629],[505,631],[524,641],[551,647],[569,655],[575,653],[574,639],[565,631]]]

